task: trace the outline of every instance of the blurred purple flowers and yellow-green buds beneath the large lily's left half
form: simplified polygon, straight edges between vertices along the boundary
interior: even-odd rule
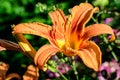
[[[67,59],[69,61],[71,60],[69,57],[67,57]],[[76,57],[76,60],[77,59],[78,58]],[[53,64],[53,62],[55,62],[56,64]],[[56,55],[52,56],[51,61],[49,60],[48,63],[51,64],[50,65],[51,68],[48,68],[48,70],[46,71],[46,74],[51,78],[53,78],[53,77],[58,78],[61,76],[60,73],[66,74],[66,73],[68,73],[68,71],[72,70],[72,68],[69,64],[64,63],[64,59],[60,59]],[[56,67],[57,69],[53,69],[52,66],[53,66],[53,68]]]

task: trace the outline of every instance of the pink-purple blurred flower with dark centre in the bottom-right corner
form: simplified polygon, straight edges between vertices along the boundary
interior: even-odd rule
[[[102,73],[104,71],[104,73]],[[105,74],[106,72],[106,74]],[[115,77],[113,79],[112,74],[115,73]],[[105,75],[105,76],[104,76]],[[120,64],[112,59],[110,62],[104,62],[100,68],[100,72],[98,73],[99,80],[119,80],[120,79]]]

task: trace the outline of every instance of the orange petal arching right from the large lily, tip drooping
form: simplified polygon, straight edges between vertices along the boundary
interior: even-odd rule
[[[100,34],[111,34],[111,41],[113,41],[115,39],[115,35],[113,33],[113,30],[110,26],[106,25],[106,24],[94,24],[94,25],[90,25],[85,29],[85,33],[83,38],[84,39],[90,39],[93,36],[97,36]]]

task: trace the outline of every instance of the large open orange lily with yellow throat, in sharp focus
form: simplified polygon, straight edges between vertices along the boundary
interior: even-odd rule
[[[98,71],[102,53],[90,38],[100,34],[111,34],[112,41],[115,36],[112,28],[105,24],[85,27],[95,11],[98,11],[98,8],[93,8],[89,3],[81,3],[73,7],[68,18],[62,10],[56,10],[49,13],[53,22],[52,27],[42,23],[21,23],[14,27],[13,34],[16,36],[25,33],[33,34],[49,40],[50,44],[42,46],[34,54],[35,64],[42,70],[45,70],[44,65],[48,59],[60,51],[66,56],[78,55],[86,66]]]

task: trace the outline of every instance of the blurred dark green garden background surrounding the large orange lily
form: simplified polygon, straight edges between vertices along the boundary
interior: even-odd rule
[[[51,25],[51,19],[48,15],[54,8],[62,9],[65,14],[69,14],[69,9],[75,5],[79,5],[81,2],[91,3],[93,6],[99,7],[99,12],[95,13],[93,18],[88,24],[93,23],[105,23],[110,25],[116,35],[116,40],[109,42],[105,35],[94,37],[93,40],[100,46],[103,58],[102,63],[116,60],[118,66],[120,62],[120,0],[0,0],[0,39],[6,39],[13,42],[17,42],[12,35],[11,25],[16,25],[25,22],[42,22]],[[43,44],[48,43],[44,38],[25,35],[30,41],[33,47],[37,50]],[[34,64],[27,56],[17,51],[1,51],[0,61],[9,64],[9,70],[7,74],[11,72],[23,75],[27,69],[27,66]],[[77,67],[80,80],[97,80],[98,73],[87,68],[84,64],[79,63],[80,67]],[[62,80],[56,76],[50,76],[47,72],[39,71],[40,80],[52,79]],[[64,74],[71,80],[74,79],[74,74],[69,71],[69,76]],[[107,78],[107,71],[101,72],[103,77]],[[110,79],[115,79],[116,74],[120,75],[117,71],[110,73]]]

